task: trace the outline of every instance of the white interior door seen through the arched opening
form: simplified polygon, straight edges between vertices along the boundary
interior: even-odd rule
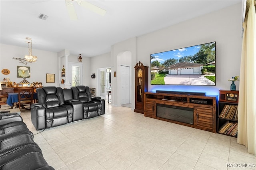
[[[121,65],[121,105],[130,103],[130,67]]]

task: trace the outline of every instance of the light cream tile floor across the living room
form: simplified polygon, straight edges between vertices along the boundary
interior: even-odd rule
[[[29,111],[21,115],[48,164],[59,170],[256,170],[256,157],[234,137],[111,103],[105,115],[43,132],[36,131]]]

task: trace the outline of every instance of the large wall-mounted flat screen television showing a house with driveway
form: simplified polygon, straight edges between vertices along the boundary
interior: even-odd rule
[[[216,42],[150,55],[151,85],[216,85]]]

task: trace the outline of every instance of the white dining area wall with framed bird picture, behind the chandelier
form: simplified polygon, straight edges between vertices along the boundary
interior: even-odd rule
[[[1,81],[3,81],[4,78],[9,77],[10,81],[20,83],[23,78],[17,78],[17,66],[27,66],[30,67],[31,73],[30,78],[26,78],[28,82],[33,83],[38,81],[42,82],[42,85],[44,86],[58,86],[57,53],[33,49],[32,55],[36,55],[38,60],[35,63],[24,65],[23,63],[19,63],[18,60],[12,59],[12,57],[24,58],[25,55],[28,55],[28,48],[6,44],[0,44],[0,48],[0,70],[10,70],[10,74],[8,75],[0,74]],[[55,83],[46,83],[46,73],[55,74]]]

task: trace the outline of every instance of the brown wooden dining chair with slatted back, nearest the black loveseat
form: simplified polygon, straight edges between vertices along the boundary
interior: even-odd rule
[[[18,88],[18,102],[16,103],[16,107],[20,109],[30,110],[30,105],[33,103],[33,95],[34,88]],[[24,105],[28,105],[29,107],[24,107]]]

